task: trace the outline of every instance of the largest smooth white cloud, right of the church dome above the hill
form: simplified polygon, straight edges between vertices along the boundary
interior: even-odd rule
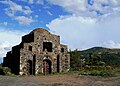
[[[71,49],[103,46],[103,42],[108,40],[119,43],[119,26],[120,18],[112,15],[100,19],[75,15],[61,16],[47,24],[51,32],[60,35],[62,43],[68,44]]]

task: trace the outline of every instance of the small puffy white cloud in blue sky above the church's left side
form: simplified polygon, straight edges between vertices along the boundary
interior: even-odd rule
[[[15,17],[15,20],[17,20],[19,24],[22,24],[22,25],[30,25],[32,22],[34,22],[32,17],[28,18],[25,16],[17,16]]]

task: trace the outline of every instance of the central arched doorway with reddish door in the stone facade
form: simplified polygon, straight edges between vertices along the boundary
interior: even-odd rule
[[[52,65],[52,63],[49,59],[43,60],[43,73],[45,75],[51,73],[51,65]]]

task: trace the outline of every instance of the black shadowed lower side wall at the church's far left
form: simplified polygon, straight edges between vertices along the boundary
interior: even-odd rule
[[[9,67],[11,72],[17,75],[19,74],[20,48],[21,45],[12,47],[12,51],[7,52],[7,55],[4,57],[3,61],[3,67]]]

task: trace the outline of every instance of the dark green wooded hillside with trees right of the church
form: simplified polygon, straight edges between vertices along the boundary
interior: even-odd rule
[[[71,70],[84,75],[111,76],[120,67],[120,49],[94,47],[84,51],[70,51]]]

